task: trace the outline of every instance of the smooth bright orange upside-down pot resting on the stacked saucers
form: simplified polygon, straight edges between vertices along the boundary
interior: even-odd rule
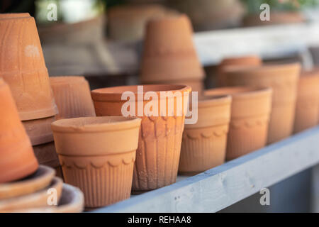
[[[38,162],[9,86],[1,78],[0,106],[0,183],[4,183],[31,175],[38,169]]]

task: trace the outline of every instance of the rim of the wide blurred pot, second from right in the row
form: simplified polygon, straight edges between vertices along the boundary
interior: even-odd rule
[[[269,65],[229,65],[225,66],[223,71],[230,76],[236,76],[237,73],[244,74],[245,77],[250,77],[250,72],[278,72],[286,70],[301,70],[301,64],[286,63],[286,64],[269,64]],[[247,73],[247,74],[245,74]],[[256,77],[257,74],[254,74]]]

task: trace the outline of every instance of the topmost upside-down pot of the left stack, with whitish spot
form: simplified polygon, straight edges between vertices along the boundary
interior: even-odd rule
[[[0,19],[0,77],[9,84],[22,121],[57,114],[33,17]]]

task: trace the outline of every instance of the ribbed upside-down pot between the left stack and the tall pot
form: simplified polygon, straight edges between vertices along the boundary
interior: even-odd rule
[[[59,109],[57,119],[96,116],[84,77],[50,77],[50,84]]]

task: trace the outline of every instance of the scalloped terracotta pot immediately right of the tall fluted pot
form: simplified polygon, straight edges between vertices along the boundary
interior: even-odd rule
[[[225,162],[230,96],[203,97],[198,101],[198,121],[185,125],[179,173],[195,175]]]

